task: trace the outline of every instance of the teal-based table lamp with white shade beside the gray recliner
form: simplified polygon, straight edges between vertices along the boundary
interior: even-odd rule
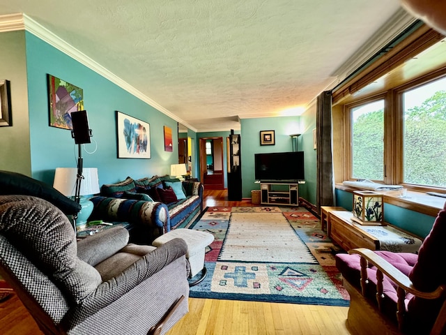
[[[76,230],[82,230],[86,227],[86,223],[93,211],[93,202],[84,195],[93,195],[99,193],[98,168],[82,169],[82,183],[80,187],[81,199],[79,204],[82,209],[77,214]],[[56,168],[54,174],[53,187],[67,197],[76,195],[77,168]]]

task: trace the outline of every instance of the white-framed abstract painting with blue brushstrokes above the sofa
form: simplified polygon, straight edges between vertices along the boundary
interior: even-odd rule
[[[116,111],[118,158],[151,158],[151,126]]]

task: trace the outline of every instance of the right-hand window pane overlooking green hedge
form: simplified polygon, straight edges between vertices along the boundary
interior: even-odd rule
[[[401,98],[403,183],[446,187],[446,77]]]

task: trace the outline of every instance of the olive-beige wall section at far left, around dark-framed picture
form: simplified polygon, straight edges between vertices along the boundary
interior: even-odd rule
[[[10,81],[12,125],[0,127],[0,170],[31,176],[24,31],[0,34],[0,79]]]

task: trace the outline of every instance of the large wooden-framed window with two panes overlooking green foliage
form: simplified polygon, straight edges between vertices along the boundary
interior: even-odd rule
[[[344,107],[346,179],[446,188],[446,71]]]

